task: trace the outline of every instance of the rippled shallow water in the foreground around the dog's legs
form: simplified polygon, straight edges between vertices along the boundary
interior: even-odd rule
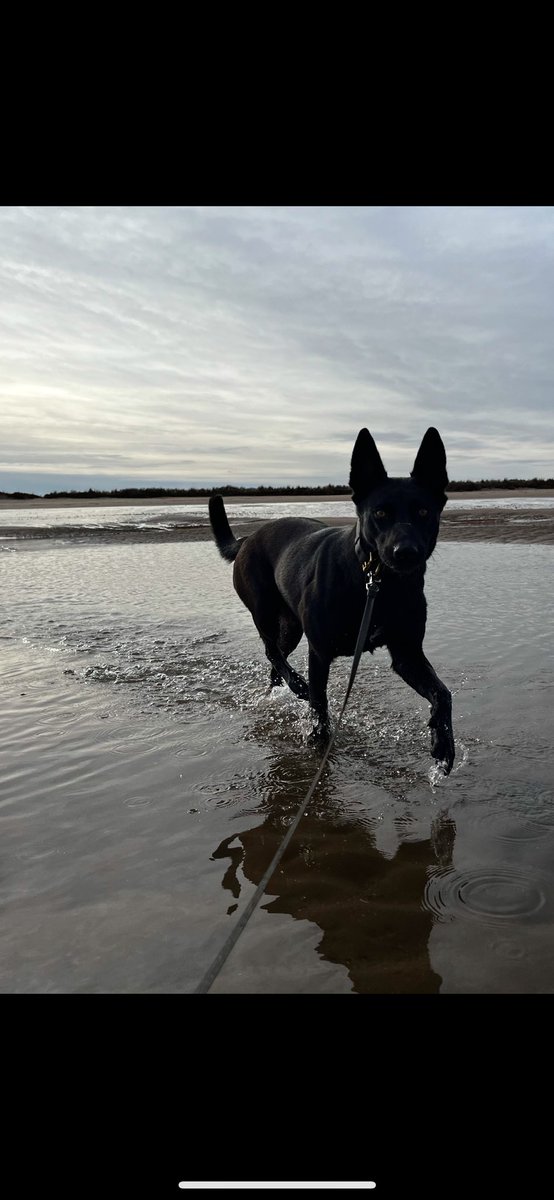
[[[554,991],[553,553],[439,545],[426,652],[453,773],[427,703],[366,655],[213,991]],[[210,544],[53,540],[1,572],[1,990],[192,991],[317,769],[306,706],[269,694]]]

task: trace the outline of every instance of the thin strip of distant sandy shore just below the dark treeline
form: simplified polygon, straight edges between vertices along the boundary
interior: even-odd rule
[[[549,487],[513,487],[513,488],[487,488],[478,492],[447,492],[451,500],[495,500],[495,499],[552,499],[554,488]],[[348,500],[345,493],[335,494],[306,494],[297,496],[285,493],[279,496],[225,496],[225,504],[327,504],[337,500]],[[106,508],[159,508],[171,505],[205,504],[207,508],[207,496],[150,496],[150,497],[115,497],[96,496],[92,499],[72,499],[62,497],[59,499],[47,499],[38,497],[35,500],[14,500],[12,497],[0,497],[0,510],[16,509],[106,509]]]

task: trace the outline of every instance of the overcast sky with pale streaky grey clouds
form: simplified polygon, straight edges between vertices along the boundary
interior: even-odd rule
[[[0,209],[0,490],[554,475],[554,208]]]

